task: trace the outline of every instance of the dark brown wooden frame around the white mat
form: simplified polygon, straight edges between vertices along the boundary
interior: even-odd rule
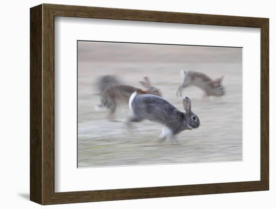
[[[92,191],[54,191],[54,17],[98,18],[260,28],[261,133],[260,181],[127,188]],[[31,8],[31,143],[30,199],[40,204],[169,197],[269,188],[268,19],[189,13],[95,8],[43,4]]]

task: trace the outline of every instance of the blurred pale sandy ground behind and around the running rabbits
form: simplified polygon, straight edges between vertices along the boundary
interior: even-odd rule
[[[115,75],[123,84],[142,89],[139,81],[148,76],[163,97],[184,112],[182,98],[176,97],[182,69],[212,79],[224,75],[226,93],[205,98],[197,87],[184,89],[182,96],[191,99],[201,126],[180,133],[178,145],[157,143],[162,126],[149,121],[127,131],[127,105],[115,113],[119,122],[107,120],[107,110],[95,110],[100,103],[97,79]],[[242,49],[78,41],[77,143],[78,167],[242,160]]]

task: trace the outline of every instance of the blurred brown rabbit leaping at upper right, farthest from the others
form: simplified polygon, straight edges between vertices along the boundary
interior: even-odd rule
[[[182,91],[188,86],[196,86],[205,92],[206,96],[222,96],[225,94],[224,87],[221,85],[223,76],[212,80],[209,76],[201,72],[182,70],[180,72],[183,83],[179,86],[176,95],[182,96]]]

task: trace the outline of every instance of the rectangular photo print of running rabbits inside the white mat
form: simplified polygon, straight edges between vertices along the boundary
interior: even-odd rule
[[[77,41],[78,168],[242,161],[242,48]]]

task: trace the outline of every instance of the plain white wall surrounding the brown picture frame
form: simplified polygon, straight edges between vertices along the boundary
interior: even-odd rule
[[[272,123],[276,114],[271,107],[276,102],[272,92],[276,90],[276,73],[273,72],[272,58],[276,49],[274,30],[276,14],[273,2],[252,1],[7,1],[2,3],[1,12],[1,76],[0,76],[0,159],[1,195],[0,205],[5,208],[40,208],[29,201],[29,63],[30,63],[30,8],[42,3],[111,7],[138,10],[159,10],[170,12],[203,13],[269,18],[270,47],[270,190],[230,194],[213,194],[154,199],[135,199],[110,202],[51,205],[51,208],[273,208],[275,205],[276,181],[273,179],[273,152],[276,152],[272,138]],[[274,163],[275,164],[275,163]]]

